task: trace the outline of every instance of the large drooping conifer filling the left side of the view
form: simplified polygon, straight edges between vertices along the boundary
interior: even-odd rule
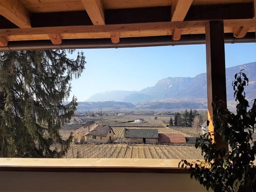
[[[73,50],[68,51],[72,53]],[[0,156],[62,157],[72,135],[62,140],[61,124],[74,115],[70,81],[85,65],[83,53],[66,51],[0,52]]]

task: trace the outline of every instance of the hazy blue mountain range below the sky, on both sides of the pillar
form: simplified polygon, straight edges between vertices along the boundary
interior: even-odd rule
[[[256,98],[256,62],[247,63],[226,69],[227,98],[233,99],[234,75],[241,69],[249,78],[249,86],[245,89],[247,98]],[[159,80],[155,86],[147,87],[138,92],[132,91],[109,91],[94,94],[89,101],[114,100],[132,103],[151,103],[156,100],[170,98],[206,98],[206,73],[195,77],[167,77]],[[202,107],[202,106],[199,106]]]

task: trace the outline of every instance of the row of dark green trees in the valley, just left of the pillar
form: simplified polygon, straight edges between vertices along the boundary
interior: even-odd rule
[[[170,125],[171,126],[188,126],[188,127],[199,127],[204,121],[206,121],[201,115],[197,113],[197,110],[188,111],[187,109],[180,114],[179,112],[175,113],[174,119],[170,118]]]

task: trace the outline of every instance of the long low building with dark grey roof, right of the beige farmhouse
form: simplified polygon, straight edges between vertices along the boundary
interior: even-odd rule
[[[125,129],[124,138],[127,142],[157,143],[157,129]]]

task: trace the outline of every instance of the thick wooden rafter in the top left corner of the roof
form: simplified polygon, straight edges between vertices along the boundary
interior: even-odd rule
[[[30,28],[30,13],[17,0],[0,0],[0,14],[20,28]]]

